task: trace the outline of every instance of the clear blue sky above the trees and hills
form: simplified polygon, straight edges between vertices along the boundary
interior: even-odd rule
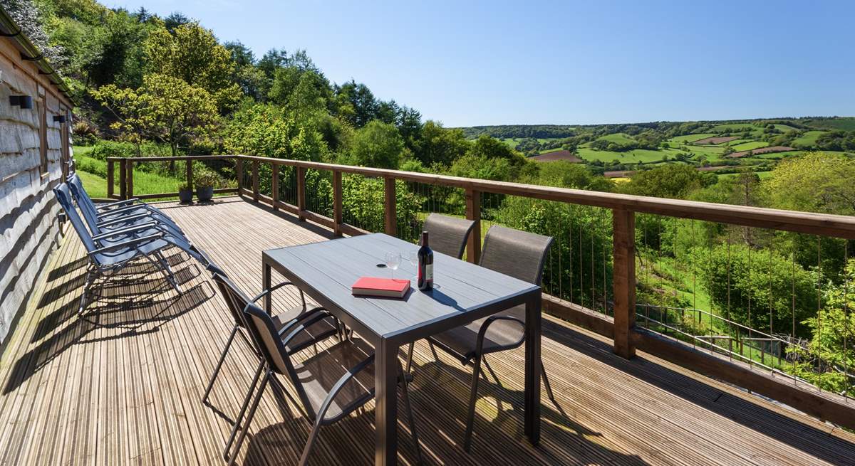
[[[855,2],[107,0],[305,49],[448,126],[855,114]]]

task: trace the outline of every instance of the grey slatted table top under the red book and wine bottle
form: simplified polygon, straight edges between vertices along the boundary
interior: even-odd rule
[[[395,278],[415,275],[408,254],[417,249],[413,243],[375,233],[270,249],[264,251],[263,259],[292,281],[298,278],[315,299],[322,295],[327,303],[321,304],[336,306],[376,337],[401,344],[523,304],[534,295],[540,299],[537,285],[435,252],[433,271],[438,288],[422,292],[413,283],[404,299],[351,294],[351,285],[359,277],[392,277],[390,269],[377,266],[384,263],[388,252],[402,254]]]

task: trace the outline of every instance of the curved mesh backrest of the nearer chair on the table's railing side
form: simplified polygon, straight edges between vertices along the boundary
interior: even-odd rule
[[[481,266],[540,285],[552,241],[551,236],[492,225],[481,248]]]

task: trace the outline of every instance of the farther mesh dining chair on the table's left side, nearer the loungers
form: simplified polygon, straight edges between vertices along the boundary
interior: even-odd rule
[[[296,288],[296,285],[290,282],[279,283],[278,285],[271,287],[269,289],[265,289],[262,293],[258,294],[255,298],[250,299],[240,288],[228,277],[224,274],[215,273],[214,274],[214,283],[216,283],[217,288],[220,289],[220,293],[222,294],[223,300],[226,301],[226,306],[228,307],[229,312],[232,314],[233,318],[233,326],[232,333],[228,336],[228,340],[226,341],[226,346],[222,348],[222,352],[220,353],[220,359],[217,361],[216,367],[214,369],[214,373],[211,375],[210,380],[208,382],[208,387],[205,388],[205,393],[202,397],[202,403],[207,405],[208,398],[211,393],[211,389],[214,387],[214,382],[216,381],[217,376],[220,374],[220,370],[222,368],[223,362],[226,360],[226,355],[229,349],[232,347],[233,341],[236,336],[240,335],[240,337],[246,342],[246,344],[250,345],[253,350],[256,350],[256,346],[251,341],[251,336],[246,333],[246,322],[245,322],[245,314],[244,309],[250,303],[257,303],[258,300],[261,300],[264,296],[268,294],[272,294],[274,291],[280,288],[284,288],[286,286],[293,286]],[[307,309],[306,299],[303,294],[303,291],[298,288],[300,294],[300,300],[302,302],[302,306],[295,306],[286,311],[279,312],[275,315],[271,315],[271,321],[273,322],[274,329],[276,333],[282,336],[289,335],[289,332],[292,329],[296,329],[299,325],[301,326],[301,330],[292,335],[286,345],[285,351],[288,354],[293,354],[295,352],[300,352],[307,347],[311,347],[320,341],[324,341],[327,338],[333,335],[340,335],[339,330],[339,320],[330,315],[324,308],[322,307],[314,307],[312,309]],[[241,408],[239,411],[239,415],[236,418],[237,420],[234,423],[231,434],[229,434],[227,443],[225,448],[223,449],[223,456],[227,457],[227,451],[229,446],[234,441],[234,436],[238,431],[238,426],[240,423],[240,419],[244,416],[246,412],[247,405],[250,403],[250,399],[252,397],[253,387],[255,387],[258,383],[258,378],[261,376],[261,372],[263,369],[262,362],[262,354],[257,352],[257,356],[259,358],[258,368],[256,370],[256,375],[253,378],[252,384],[248,392],[244,397],[244,401],[241,404]]]

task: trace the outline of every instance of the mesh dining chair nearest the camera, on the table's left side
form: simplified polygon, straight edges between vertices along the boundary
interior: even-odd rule
[[[374,399],[374,348],[358,337],[351,337],[315,353],[302,362],[294,362],[287,347],[306,329],[308,323],[298,321],[285,332],[280,332],[276,329],[274,318],[253,303],[245,307],[244,317],[252,341],[262,355],[263,376],[250,411],[246,414],[244,427],[231,457],[228,458],[228,464],[233,464],[238,456],[267,384],[274,384],[284,391],[285,387],[280,382],[280,377],[283,377],[292,383],[298,394],[299,404],[312,422],[309,439],[306,440],[300,457],[299,464],[303,466],[309,460],[310,451],[322,426],[344,419]],[[416,444],[416,456],[421,463],[407,380],[400,366],[398,370],[401,373],[398,381],[403,385],[401,393],[407,409],[410,431]],[[254,386],[255,382],[251,390]],[[240,422],[240,419],[237,422]]]

